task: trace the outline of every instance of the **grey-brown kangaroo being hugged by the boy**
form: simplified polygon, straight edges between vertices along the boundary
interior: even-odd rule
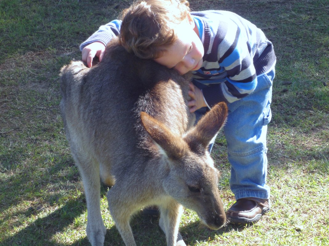
[[[215,105],[194,125],[187,106],[189,79],[111,41],[102,62],[72,61],[61,69],[60,103],[72,156],[87,200],[87,237],[104,244],[100,181],[109,187],[111,216],[126,246],[136,246],[129,224],[141,207],[157,205],[167,246],[186,245],[178,232],[182,206],[211,229],[226,215],[218,171],[208,145],[227,107]]]

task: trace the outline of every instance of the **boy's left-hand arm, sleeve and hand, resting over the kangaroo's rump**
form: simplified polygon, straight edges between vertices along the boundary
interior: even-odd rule
[[[101,26],[98,31],[93,33],[80,45],[82,61],[86,62],[89,68],[91,67],[92,60],[95,56],[99,58],[99,61],[102,61],[107,43],[109,43],[114,36],[119,35],[120,27],[121,21],[111,21],[110,23]]]

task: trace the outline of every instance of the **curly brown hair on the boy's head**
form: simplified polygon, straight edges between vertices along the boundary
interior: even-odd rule
[[[139,0],[121,13],[120,43],[139,58],[155,59],[177,40],[175,25],[187,20],[186,0]]]

